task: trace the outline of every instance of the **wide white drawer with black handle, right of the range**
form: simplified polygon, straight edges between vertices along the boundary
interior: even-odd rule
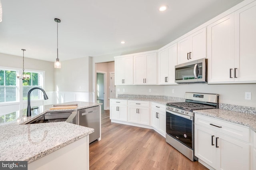
[[[228,121],[211,118],[204,115],[195,114],[195,124],[209,128],[216,132],[226,134],[244,142],[250,142],[250,128]]]

